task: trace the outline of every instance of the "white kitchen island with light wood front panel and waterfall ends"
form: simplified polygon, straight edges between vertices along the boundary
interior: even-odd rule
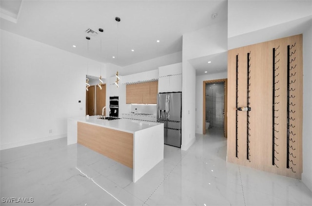
[[[162,123],[98,117],[69,118],[67,145],[81,144],[132,168],[133,182],[163,159]]]

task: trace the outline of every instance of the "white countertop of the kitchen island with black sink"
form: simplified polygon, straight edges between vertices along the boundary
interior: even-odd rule
[[[134,119],[104,120],[98,119],[98,117],[101,116],[100,115],[89,116],[89,119],[87,119],[86,117],[77,117],[70,119],[77,120],[78,122],[88,123],[100,127],[105,127],[118,131],[125,131],[129,133],[135,133],[136,131],[144,130],[147,128],[154,127],[156,125],[163,124],[158,122],[147,122]]]

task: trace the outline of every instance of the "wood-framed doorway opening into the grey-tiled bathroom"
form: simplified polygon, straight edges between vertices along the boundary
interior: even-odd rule
[[[227,137],[227,79],[203,81],[203,134],[223,130]]]

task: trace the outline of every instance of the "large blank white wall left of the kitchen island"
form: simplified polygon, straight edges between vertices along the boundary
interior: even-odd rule
[[[88,62],[91,74],[99,62],[0,32],[0,149],[66,137],[67,118],[85,115]]]

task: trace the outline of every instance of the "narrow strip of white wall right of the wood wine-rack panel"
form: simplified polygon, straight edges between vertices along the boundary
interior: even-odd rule
[[[303,33],[303,173],[302,182],[312,191],[312,20]]]

